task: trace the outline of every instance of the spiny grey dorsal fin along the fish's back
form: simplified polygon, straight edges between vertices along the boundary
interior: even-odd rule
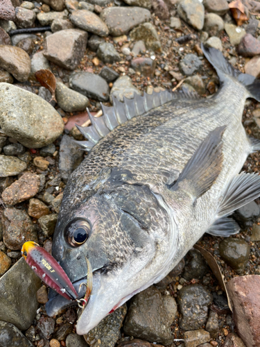
[[[80,133],[89,140],[75,141],[81,149],[89,151],[100,139],[105,137],[116,126],[124,124],[128,119],[144,115],[153,108],[157,108],[173,100],[198,99],[198,94],[185,91],[173,93],[171,90],[164,90],[158,93],[153,92],[153,94],[146,94],[145,92],[144,96],[135,93],[134,99],[127,99],[124,96],[123,103],[114,96],[112,96],[112,99],[112,107],[107,107],[101,103],[101,110],[103,112],[103,116],[101,117],[96,118],[92,116],[87,108],[89,119],[92,122],[91,126],[83,127],[76,125]]]

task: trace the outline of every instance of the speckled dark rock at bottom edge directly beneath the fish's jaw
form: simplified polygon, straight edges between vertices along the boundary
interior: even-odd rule
[[[121,326],[125,319],[127,307],[124,304],[117,310],[106,316],[96,327],[85,335],[85,340],[90,347],[96,347],[96,341],[100,341],[99,347],[114,347],[121,337]]]

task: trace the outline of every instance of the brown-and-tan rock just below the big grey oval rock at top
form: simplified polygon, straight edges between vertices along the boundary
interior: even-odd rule
[[[153,51],[161,50],[161,42],[159,41],[159,36],[155,29],[155,26],[151,23],[144,23],[134,28],[130,37],[132,40],[143,40],[146,47],[152,49]]]

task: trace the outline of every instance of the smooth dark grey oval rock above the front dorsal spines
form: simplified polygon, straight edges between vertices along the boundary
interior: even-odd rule
[[[107,101],[110,93],[107,82],[101,76],[90,72],[74,72],[69,78],[69,86],[98,101]]]

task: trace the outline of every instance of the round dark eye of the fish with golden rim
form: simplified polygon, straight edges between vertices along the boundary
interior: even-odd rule
[[[66,229],[65,236],[67,241],[73,247],[78,247],[87,241],[91,232],[90,225],[84,219],[77,219],[76,221],[71,221]]]

